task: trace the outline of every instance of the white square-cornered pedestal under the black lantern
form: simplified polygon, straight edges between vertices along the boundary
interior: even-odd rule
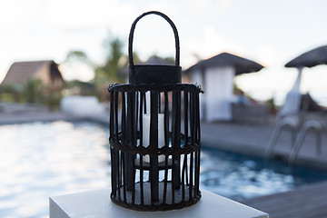
[[[109,198],[110,190],[73,193],[50,197],[50,218],[268,218],[263,213],[242,203],[234,202],[215,193],[202,191],[200,202],[191,207],[168,212],[137,212],[118,206]]]

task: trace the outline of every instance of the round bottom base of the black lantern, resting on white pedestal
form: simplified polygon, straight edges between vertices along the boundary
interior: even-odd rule
[[[172,183],[167,183],[167,190],[165,201],[163,199],[163,188],[164,182],[159,183],[159,199],[152,203],[151,201],[151,183],[144,182],[144,199],[141,200],[141,188],[140,183],[135,183],[134,191],[134,203],[132,201],[133,192],[125,191],[124,199],[124,188],[116,190],[116,193],[111,193],[111,199],[114,203],[123,206],[125,208],[133,209],[136,211],[169,211],[174,209],[182,209],[197,203],[201,198],[201,192],[195,191],[194,187],[191,190],[192,196],[190,197],[190,187],[184,185],[184,188],[172,190]],[[118,195],[118,192],[120,194]],[[174,195],[173,195],[174,193]],[[173,199],[174,196],[174,199]]]

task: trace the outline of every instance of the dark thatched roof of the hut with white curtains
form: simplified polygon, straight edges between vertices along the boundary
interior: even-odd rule
[[[188,68],[185,72],[192,72],[196,69],[207,69],[219,66],[233,66],[235,69],[235,74],[246,74],[257,72],[263,69],[262,64],[258,64],[246,58],[229,54],[229,53],[222,53],[215,55],[209,59],[203,60],[194,64],[190,68]]]

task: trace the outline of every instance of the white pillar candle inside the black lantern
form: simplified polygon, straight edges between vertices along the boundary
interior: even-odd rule
[[[164,127],[163,127],[163,116],[164,114],[158,114],[158,148],[164,145]],[[150,114],[143,115],[143,146],[147,147],[150,144]],[[150,162],[150,156],[144,155],[144,162]],[[158,156],[158,162],[164,161],[164,155]]]

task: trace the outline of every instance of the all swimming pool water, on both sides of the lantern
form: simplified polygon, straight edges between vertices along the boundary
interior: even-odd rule
[[[106,126],[90,122],[0,125],[0,217],[47,217],[49,196],[110,187],[107,138]],[[272,166],[203,146],[201,186],[240,200],[327,180]]]

